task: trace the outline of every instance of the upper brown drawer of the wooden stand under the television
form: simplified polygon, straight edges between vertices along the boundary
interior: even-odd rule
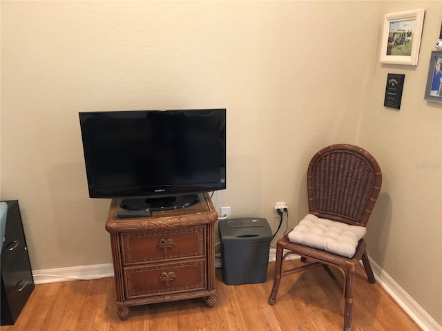
[[[162,259],[204,257],[205,227],[180,228],[153,233],[121,234],[123,265]]]

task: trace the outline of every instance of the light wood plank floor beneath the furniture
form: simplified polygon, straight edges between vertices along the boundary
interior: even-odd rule
[[[215,308],[202,299],[144,305],[131,308],[126,321],[117,317],[113,278],[37,285],[17,323],[0,330],[343,330],[342,294],[323,268],[284,277],[276,305],[269,305],[274,265],[269,263],[265,283],[249,285],[225,285],[218,269]],[[352,330],[421,329],[380,285],[367,282],[361,268],[354,283]]]

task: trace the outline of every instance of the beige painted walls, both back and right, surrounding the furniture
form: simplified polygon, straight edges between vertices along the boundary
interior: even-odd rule
[[[416,8],[419,66],[381,65],[383,14]],[[20,201],[32,267],[111,263],[78,112],[225,107],[216,207],[276,229],[286,201],[293,225],[312,154],[360,144],[384,174],[369,254],[442,324],[442,106],[423,100],[441,21],[439,1],[2,1],[1,199]],[[388,72],[406,75],[400,111],[383,107]]]

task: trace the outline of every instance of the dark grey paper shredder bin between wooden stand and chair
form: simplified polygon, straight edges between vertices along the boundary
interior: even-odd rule
[[[272,239],[267,219],[243,217],[222,219],[222,280],[227,285],[264,283]]]

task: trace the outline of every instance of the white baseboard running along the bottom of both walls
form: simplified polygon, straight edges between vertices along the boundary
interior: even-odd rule
[[[296,255],[291,255],[288,259],[299,259]],[[219,259],[217,259],[219,260]],[[276,260],[276,249],[271,248],[269,252],[269,262]],[[219,262],[219,261],[218,261]],[[442,331],[441,325],[436,323],[432,317],[430,317],[421,306],[416,303],[401,288],[401,286],[396,283],[392,277],[390,277],[386,272],[384,272],[381,267],[370,259],[372,264],[372,269],[376,281],[381,285],[385,291],[398,303],[399,306],[413,319],[413,321],[419,325],[419,327],[424,331]],[[218,266],[217,266],[218,268]],[[57,283],[60,281],[73,281],[73,280],[89,280],[89,279],[99,279],[104,277],[113,277],[113,264],[97,264],[97,265],[81,265],[78,267],[69,268],[57,268],[57,269],[46,269],[46,270],[34,270],[32,272],[35,284],[44,283]]]

